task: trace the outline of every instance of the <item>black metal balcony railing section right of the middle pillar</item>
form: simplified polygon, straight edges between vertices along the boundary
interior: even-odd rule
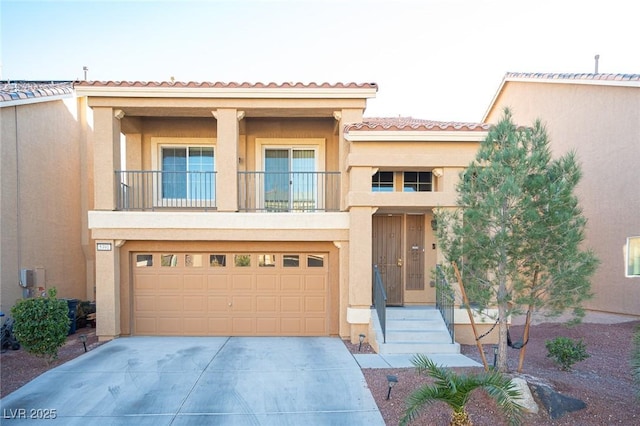
[[[238,172],[238,209],[339,211],[340,172]]]

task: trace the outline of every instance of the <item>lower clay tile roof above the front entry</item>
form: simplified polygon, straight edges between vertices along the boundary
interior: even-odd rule
[[[432,121],[413,117],[373,117],[363,118],[362,123],[348,124],[346,132],[352,130],[380,130],[380,131],[487,131],[489,124],[464,123],[456,121]]]

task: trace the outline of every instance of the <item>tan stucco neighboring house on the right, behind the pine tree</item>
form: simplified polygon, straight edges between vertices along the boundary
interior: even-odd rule
[[[581,163],[585,247],[601,261],[585,307],[640,315],[640,74],[507,73],[484,121],[504,107],[520,125],[540,119],[553,154]]]

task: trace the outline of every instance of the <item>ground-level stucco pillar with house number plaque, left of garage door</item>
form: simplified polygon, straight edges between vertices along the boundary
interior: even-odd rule
[[[120,250],[117,241],[96,241],[96,334],[99,340],[120,335]]]

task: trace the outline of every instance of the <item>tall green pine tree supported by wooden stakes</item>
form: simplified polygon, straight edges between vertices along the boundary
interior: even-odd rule
[[[517,127],[505,109],[461,174],[460,210],[436,214],[440,246],[448,262],[462,265],[469,300],[498,308],[500,371],[507,369],[509,315],[573,310],[579,320],[592,296],[598,261],[581,247],[580,178],[575,153],[552,159],[541,122]]]

